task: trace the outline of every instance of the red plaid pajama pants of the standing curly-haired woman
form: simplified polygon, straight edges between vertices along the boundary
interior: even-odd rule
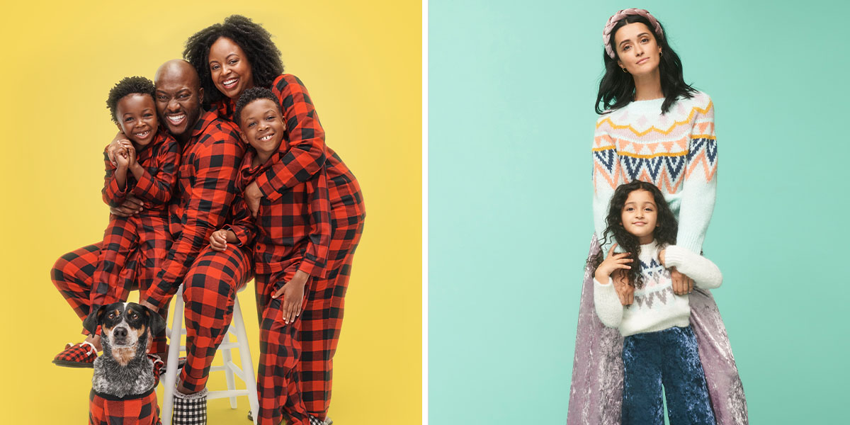
[[[332,180],[345,178],[337,176]],[[307,307],[301,314],[301,359],[298,371],[301,396],[310,415],[325,419],[331,403],[333,355],[343,326],[345,292],[351,275],[354,250],[363,233],[365,209],[356,181],[332,181],[331,247],[326,273],[310,286]]]

